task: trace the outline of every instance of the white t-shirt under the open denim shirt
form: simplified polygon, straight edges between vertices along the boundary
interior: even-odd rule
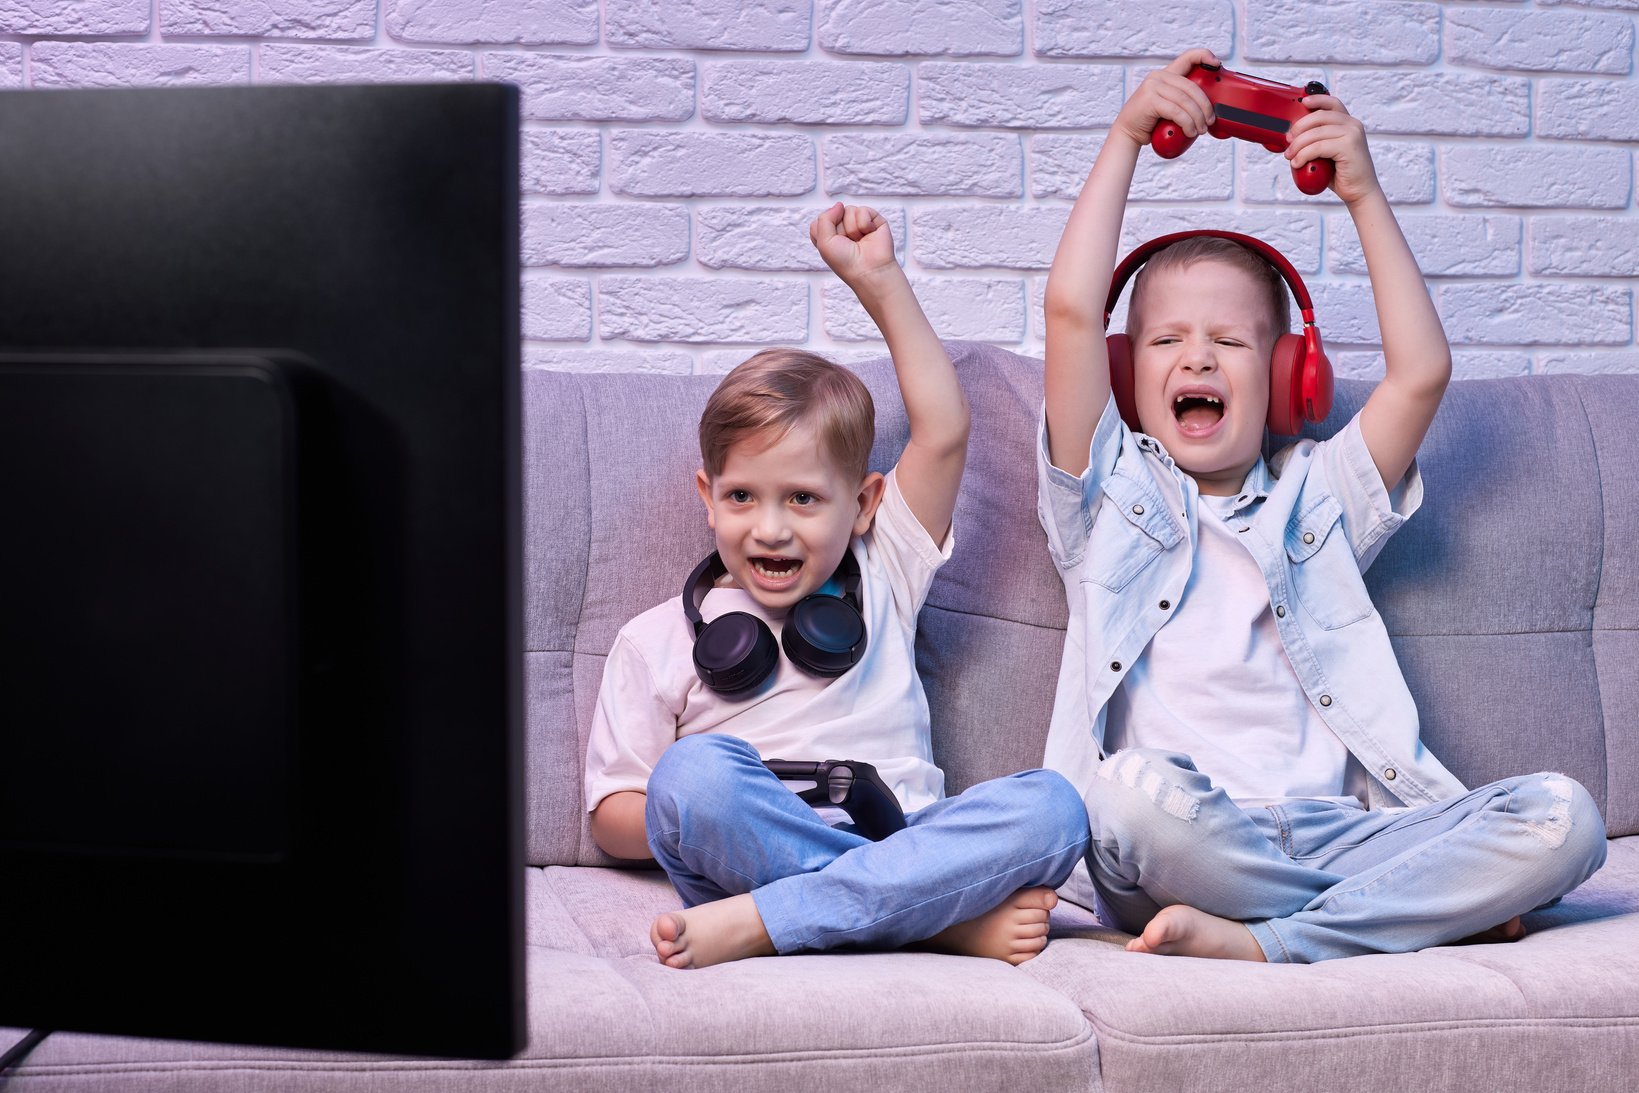
[[[1174,615],[1110,696],[1106,746],[1183,752],[1239,805],[1364,800],[1365,772],[1298,685],[1252,554],[1201,495],[1195,565]]]

